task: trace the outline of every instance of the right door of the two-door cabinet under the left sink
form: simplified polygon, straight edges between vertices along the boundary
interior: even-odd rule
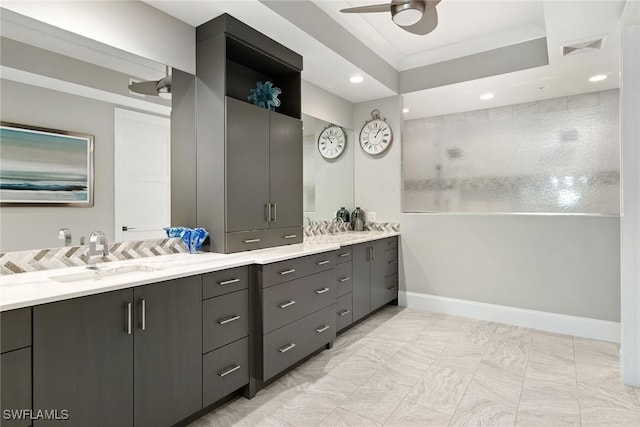
[[[202,409],[202,277],[134,289],[135,426]]]

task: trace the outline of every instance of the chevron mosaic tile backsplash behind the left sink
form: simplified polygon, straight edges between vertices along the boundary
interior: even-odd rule
[[[89,245],[35,249],[0,253],[0,273],[16,274],[30,271],[87,265]],[[181,238],[118,242],[109,245],[109,255],[98,262],[122,261],[157,255],[189,252]]]

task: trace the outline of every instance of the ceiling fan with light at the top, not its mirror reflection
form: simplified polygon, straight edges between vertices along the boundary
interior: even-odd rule
[[[343,13],[391,12],[393,22],[413,34],[429,34],[438,26],[436,5],[440,0],[392,0],[387,4],[342,9]]]

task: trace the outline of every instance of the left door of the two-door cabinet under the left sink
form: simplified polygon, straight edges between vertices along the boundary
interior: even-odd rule
[[[133,425],[130,289],[33,309],[34,410],[68,410],[68,420],[34,426]]]

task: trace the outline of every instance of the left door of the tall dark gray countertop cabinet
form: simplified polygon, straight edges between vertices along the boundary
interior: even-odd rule
[[[269,110],[227,98],[226,125],[226,231],[269,228]]]

